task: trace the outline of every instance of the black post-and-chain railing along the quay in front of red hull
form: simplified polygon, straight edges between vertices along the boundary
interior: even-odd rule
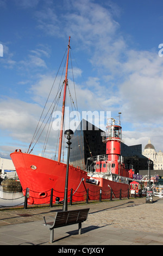
[[[91,191],[89,190],[89,188],[87,188],[87,190],[82,191],[82,192],[78,192],[78,193],[73,193],[73,188],[71,188],[71,190],[68,191],[68,203],[70,205],[72,205],[73,203],[79,203],[79,202],[85,202],[86,204],[89,204],[89,202],[92,201],[97,201],[97,202],[102,202],[105,200],[114,200],[114,199],[119,199],[122,200],[122,198],[130,198],[131,197],[131,193],[129,188],[127,190],[122,190],[122,188],[120,190],[112,190],[111,188],[109,188],[108,191],[104,191],[102,189],[99,189],[99,191]],[[11,206],[23,206],[24,209],[27,209],[28,205],[48,205],[49,207],[52,207],[54,204],[61,204],[63,203],[63,199],[60,200],[60,198],[64,198],[64,192],[59,192],[59,191],[55,191],[53,188],[51,188],[51,190],[48,191],[43,191],[43,192],[35,192],[30,190],[29,188],[26,188],[26,190],[22,191],[23,194],[22,196],[20,196],[20,192],[15,192],[15,196],[18,193],[18,195],[20,197],[15,197],[15,198],[1,198],[0,196],[0,208],[7,208],[7,207],[11,207]],[[13,192],[5,192],[5,193],[13,193]],[[32,194],[34,194],[35,196],[32,196]],[[39,198],[39,196],[37,196],[37,194],[41,194],[43,196],[43,203],[42,203],[42,197]],[[141,191],[139,192],[139,194],[134,194],[134,197],[142,197]],[[32,202],[29,200],[32,199]],[[83,199],[81,199],[83,198]],[[35,199],[36,199],[36,203],[35,203]],[[3,200],[8,200],[8,205],[4,204],[3,205]],[[12,204],[9,204],[9,202],[12,200]],[[18,204],[13,204],[13,202],[16,202],[16,200],[19,200],[21,202],[18,202]],[[30,202],[29,202],[30,201]],[[34,203],[33,203],[34,202]]]

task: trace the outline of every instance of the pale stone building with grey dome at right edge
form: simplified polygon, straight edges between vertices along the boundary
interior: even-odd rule
[[[154,170],[163,170],[163,153],[161,150],[158,153],[155,151],[154,145],[151,144],[150,139],[148,144],[145,146],[142,155],[153,161]]]

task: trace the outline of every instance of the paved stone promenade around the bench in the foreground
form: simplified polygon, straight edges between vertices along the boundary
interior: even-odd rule
[[[68,205],[68,210],[80,208],[90,208],[82,235],[77,224],[58,228],[53,243],[43,216],[55,215],[62,206],[1,210],[0,245],[163,245],[163,199],[154,197],[153,204],[146,204],[146,198],[131,198]]]

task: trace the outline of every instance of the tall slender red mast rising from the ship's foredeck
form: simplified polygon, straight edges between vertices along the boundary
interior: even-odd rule
[[[58,150],[58,162],[60,162],[61,158],[61,147],[62,147],[62,134],[63,134],[63,128],[64,128],[64,115],[65,115],[65,100],[66,100],[66,87],[68,84],[67,80],[67,72],[68,72],[68,58],[69,58],[69,51],[70,51],[70,38],[68,41],[68,52],[67,52],[67,63],[66,63],[66,74],[65,74],[65,87],[64,87],[64,97],[63,97],[63,103],[62,103],[62,115],[61,115],[61,125],[60,125],[60,136],[59,136],[59,150]]]

